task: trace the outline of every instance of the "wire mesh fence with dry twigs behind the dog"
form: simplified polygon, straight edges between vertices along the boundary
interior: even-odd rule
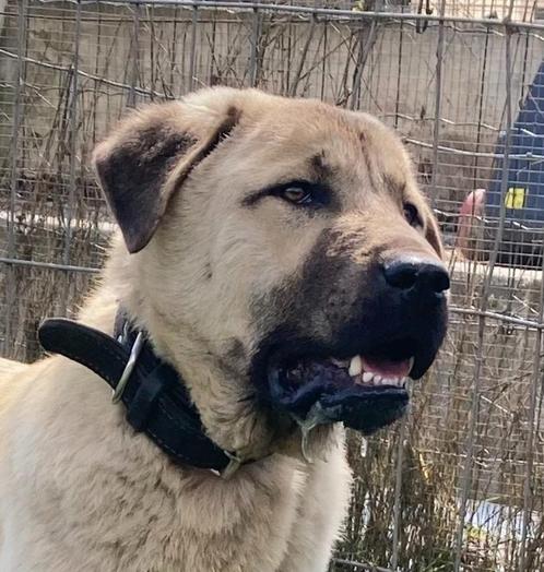
[[[410,416],[351,438],[331,570],[543,570],[543,12],[0,2],[3,355],[38,357],[39,321],[73,312],[96,277],[113,224],[88,156],[127,107],[226,84],[370,111],[404,138],[439,217],[452,313]]]

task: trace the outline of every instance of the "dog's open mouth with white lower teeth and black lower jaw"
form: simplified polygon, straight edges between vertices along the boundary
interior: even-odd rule
[[[416,345],[400,338],[352,357],[322,353],[272,358],[272,404],[300,425],[343,421],[365,434],[399,419],[409,403],[406,384],[419,376]]]

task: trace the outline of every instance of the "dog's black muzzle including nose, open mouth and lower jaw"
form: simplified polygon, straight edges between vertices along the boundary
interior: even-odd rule
[[[403,257],[380,265],[331,339],[279,329],[261,353],[265,400],[303,429],[343,421],[365,434],[399,419],[406,384],[430,367],[446,334],[449,288],[434,260]]]

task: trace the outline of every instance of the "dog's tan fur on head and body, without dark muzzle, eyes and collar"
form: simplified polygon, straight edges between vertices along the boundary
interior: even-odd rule
[[[225,129],[228,117],[236,124]],[[299,433],[277,434],[243,398],[252,391],[245,373],[259,333],[249,302],[298,276],[330,223],[240,201],[286,175],[308,177],[324,150],[343,193],[334,228],[362,267],[370,252],[362,228],[376,243],[440,251],[430,211],[402,145],[377,120],[257,91],[208,90],[142,110],[98,147],[98,170],[158,124],[189,132],[196,146],[162,179],[161,205],[150,203],[157,219],[122,222],[145,226],[130,229],[138,252],[115,239],[80,320],[111,333],[122,302],[180,371],[212,439],[264,458],[227,481],[176,467],[131,430],[106,383],[85,368],[62,357],[0,362],[0,570],[324,571],[348,499],[343,430],[317,431],[308,464]],[[212,148],[217,130],[223,140]],[[424,213],[424,227],[401,224],[391,186]],[[236,358],[233,341],[244,348]]]

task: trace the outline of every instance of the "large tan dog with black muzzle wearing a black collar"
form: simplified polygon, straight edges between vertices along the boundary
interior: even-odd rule
[[[213,87],[132,111],[93,162],[120,230],[80,325],[44,325],[50,353],[71,349],[0,380],[0,570],[324,571],[344,426],[398,419],[446,334],[439,230],[400,139],[363,112]],[[116,358],[138,369],[141,339],[153,382]],[[125,402],[93,359],[125,368]],[[130,376],[143,397],[122,394]],[[176,431],[150,429],[176,422],[155,386],[182,386],[189,404],[168,403],[197,412],[201,450],[174,458]]]

